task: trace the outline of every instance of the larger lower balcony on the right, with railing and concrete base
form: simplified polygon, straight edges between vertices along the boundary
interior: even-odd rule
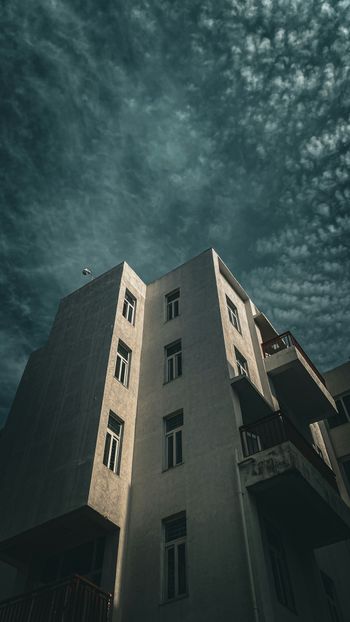
[[[350,537],[350,510],[333,471],[284,414],[240,431],[242,481],[261,509],[311,548]]]

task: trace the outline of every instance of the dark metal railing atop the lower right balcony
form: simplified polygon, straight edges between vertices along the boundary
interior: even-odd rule
[[[245,457],[257,454],[265,449],[270,449],[285,441],[290,441],[323,475],[327,482],[335,490],[338,490],[332,469],[329,468],[320,454],[307,442],[285,414],[276,412],[269,417],[263,417],[254,423],[242,426],[240,432]]]

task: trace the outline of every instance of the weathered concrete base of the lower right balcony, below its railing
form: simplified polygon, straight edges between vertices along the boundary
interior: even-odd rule
[[[348,506],[290,441],[250,456],[240,468],[259,506],[305,546],[319,548],[350,538]]]

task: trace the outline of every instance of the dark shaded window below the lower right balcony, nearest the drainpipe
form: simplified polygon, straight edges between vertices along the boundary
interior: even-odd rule
[[[294,594],[281,536],[272,525],[266,523],[265,528],[277,599],[295,612]]]

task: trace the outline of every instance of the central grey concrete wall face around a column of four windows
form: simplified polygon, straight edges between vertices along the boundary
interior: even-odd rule
[[[164,297],[180,288],[180,316]],[[182,340],[183,375],[164,384],[164,346]],[[163,472],[163,417],[183,409],[183,464]],[[123,620],[251,622],[234,472],[240,445],[211,251],[147,288]],[[161,522],[186,511],[189,596],[162,604]],[[215,597],[213,598],[213,595]]]

